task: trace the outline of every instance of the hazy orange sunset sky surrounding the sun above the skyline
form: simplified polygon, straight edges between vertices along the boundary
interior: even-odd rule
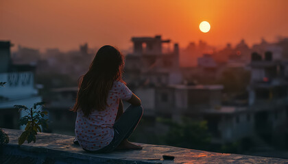
[[[185,47],[202,39],[216,46],[288,36],[288,1],[0,0],[0,40],[36,49],[132,46],[132,36],[161,34]],[[202,33],[202,20],[211,31]],[[15,48],[14,48],[15,49]]]

